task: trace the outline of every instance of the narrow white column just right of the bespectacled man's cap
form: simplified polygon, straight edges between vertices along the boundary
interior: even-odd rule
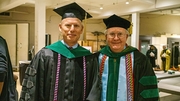
[[[132,29],[132,35],[131,35],[131,46],[136,47],[139,49],[139,13],[133,13],[132,14],[132,23],[133,23],[133,29]]]

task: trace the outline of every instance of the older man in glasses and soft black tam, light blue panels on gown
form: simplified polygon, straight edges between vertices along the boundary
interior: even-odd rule
[[[149,59],[126,44],[131,23],[117,15],[103,21],[107,46],[97,53],[101,101],[158,101],[157,78]]]

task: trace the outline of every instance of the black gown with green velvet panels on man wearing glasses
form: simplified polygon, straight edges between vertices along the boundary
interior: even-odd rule
[[[107,80],[107,85],[103,84],[102,85],[107,86],[107,93],[106,93],[106,101],[117,101],[118,97],[118,80],[117,82],[112,86],[111,80],[114,80],[114,78],[118,79],[118,71],[116,71],[117,75],[113,78],[111,72],[109,72],[111,69],[113,69],[113,65],[117,66],[117,69],[119,69],[119,65],[121,63],[116,62],[116,64],[113,64],[113,62],[110,62],[111,60],[118,60],[122,57],[125,56],[126,54],[132,53],[134,54],[134,62],[133,62],[133,80],[134,80],[134,99],[133,101],[158,101],[159,100],[159,90],[157,86],[157,78],[156,75],[152,69],[152,66],[149,62],[149,59],[143,55],[140,51],[138,51],[136,48],[133,48],[131,46],[127,46],[126,49],[124,49],[120,53],[113,53],[110,51],[109,47],[106,46],[100,52],[96,53],[96,55],[99,58],[99,54],[106,55],[109,59],[109,67],[108,67],[108,80]],[[100,58],[99,58],[100,59]],[[101,59],[100,59],[101,60]],[[100,61],[101,65],[101,61]],[[101,66],[100,66],[101,67]],[[105,67],[104,67],[105,68]],[[113,72],[112,72],[113,73]],[[110,76],[111,75],[111,76]],[[111,92],[116,91],[115,95],[113,95]],[[117,94],[117,95],[116,95]],[[103,100],[104,101],[104,100]]]

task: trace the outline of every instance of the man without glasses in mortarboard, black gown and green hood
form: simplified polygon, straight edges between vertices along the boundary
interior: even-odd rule
[[[91,15],[76,3],[54,11],[62,16],[63,40],[35,55],[26,69],[20,101],[99,101],[97,58],[77,43],[82,20]]]

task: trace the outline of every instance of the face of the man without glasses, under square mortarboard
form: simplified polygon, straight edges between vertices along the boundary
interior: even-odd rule
[[[73,46],[83,32],[83,25],[78,18],[66,18],[59,24],[59,29],[63,34],[64,42],[69,46]]]

